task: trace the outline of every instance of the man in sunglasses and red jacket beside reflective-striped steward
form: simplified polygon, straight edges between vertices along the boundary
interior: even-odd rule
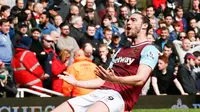
[[[49,79],[44,81],[44,85],[52,90],[62,93],[63,81],[58,78],[59,74],[62,74],[66,70],[66,65],[61,62],[58,55],[52,49],[53,38],[50,35],[44,35],[42,38],[42,44],[45,53],[48,55],[45,62],[45,72],[49,74]],[[45,87],[45,86],[44,86]]]

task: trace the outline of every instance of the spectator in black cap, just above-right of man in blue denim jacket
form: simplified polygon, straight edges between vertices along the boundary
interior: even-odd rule
[[[54,17],[55,16],[57,16],[57,15],[59,15],[58,14],[58,11],[60,10],[60,7],[58,7],[57,5],[52,5],[52,6],[50,6],[49,7],[49,10],[48,10],[48,12],[49,12],[49,14],[50,14],[50,17],[49,17],[49,21],[50,21],[50,23],[54,23]]]

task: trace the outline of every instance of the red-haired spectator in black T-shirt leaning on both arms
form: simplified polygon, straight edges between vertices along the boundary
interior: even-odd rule
[[[171,87],[174,87],[174,84],[179,89],[182,95],[187,95],[184,92],[180,82],[173,75],[173,72],[167,69],[168,66],[168,57],[159,56],[158,68],[152,72],[152,86],[150,88],[149,94],[152,92],[155,95],[167,95],[170,94]],[[152,91],[153,89],[153,91]],[[151,93],[151,94],[152,94]]]

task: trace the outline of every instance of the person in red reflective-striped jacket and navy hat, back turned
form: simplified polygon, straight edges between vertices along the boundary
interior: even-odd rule
[[[29,51],[32,39],[23,36],[15,45],[15,55],[12,60],[16,84],[19,87],[39,86],[43,87],[42,81],[49,77],[39,64],[34,52]]]

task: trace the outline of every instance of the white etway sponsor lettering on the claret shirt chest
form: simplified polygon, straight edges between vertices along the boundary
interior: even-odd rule
[[[134,58],[130,57],[118,57],[115,59],[115,63],[126,63],[127,65],[131,65],[134,62]]]

